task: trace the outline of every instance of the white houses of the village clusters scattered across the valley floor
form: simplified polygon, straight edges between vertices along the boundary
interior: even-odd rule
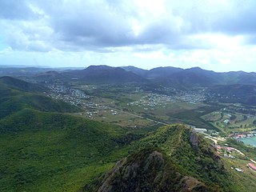
[[[54,99],[60,99],[64,102],[69,102],[73,106],[81,107],[86,111],[84,115],[86,115],[88,118],[94,118],[94,116],[97,115],[101,110],[110,110],[110,114],[112,115],[118,114],[120,112],[118,110],[130,111],[130,109],[126,108],[115,110],[114,108],[116,107],[110,106],[110,103],[106,104],[99,102],[94,96],[85,94],[84,91],[70,88],[69,86],[54,83],[48,87],[50,88],[51,92],[50,94],[47,94],[47,96]],[[85,86],[82,87],[84,88]],[[137,89],[135,92],[142,92],[142,90],[138,91]],[[171,96],[166,94],[150,93],[142,96],[142,98],[140,98],[138,101],[128,102],[126,105],[143,107],[143,110],[154,110],[154,107],[157,106],[166,108],[166,104],[170,103],[186,102],[196,104],[201,103],[206,99],[202,94],[197,94],[191,91],[190,93],[186,91],[176,91],[175,93],[176,94]]]

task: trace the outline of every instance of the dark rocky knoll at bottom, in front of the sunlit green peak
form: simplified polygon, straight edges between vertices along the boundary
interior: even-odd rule
[[[94,190],[130,191],[210,191],[193,177],[182,175],[167,157],[154,149],[141,150],[118,162]]]

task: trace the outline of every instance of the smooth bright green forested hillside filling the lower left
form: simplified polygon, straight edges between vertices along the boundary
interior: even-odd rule
[[[117,126],[29,109],[0,120],[0,133],[0,191],[78,191],[129,149]]]

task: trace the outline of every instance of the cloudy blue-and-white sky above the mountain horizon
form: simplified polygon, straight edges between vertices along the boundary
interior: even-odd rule
[[[256,72],[254,0],[0,0],[0,65]]]

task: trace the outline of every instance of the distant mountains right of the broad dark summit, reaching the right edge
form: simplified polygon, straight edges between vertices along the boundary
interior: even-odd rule
[[[150,79],[152,82],[177,88],[187,89],[215,85],[256,84],[256,73],[246,73],[243,71],[217,73],[212,70],[202,70],[199,67],[183,70],[182,68],[171,66],[157,67],[152,70],[142,70],[137,67],[127,66],[124,69]]]

